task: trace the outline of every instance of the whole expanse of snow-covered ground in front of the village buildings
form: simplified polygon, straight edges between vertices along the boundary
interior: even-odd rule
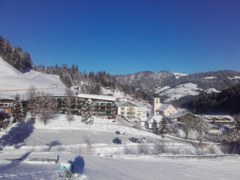
[[[119,137],[122,144],[113,144],[114,137]],[[145,137],[146,142],[138,145],[129,140],[131,137]],[[75,179],[81,180],[239,178],[238,156],[197,160],[164,158],[169,155],[166,152],[147,153],[154,151],[157,144],[160,149],[171,149],[170,154],[198,152],[192,143],[162,138],[118,120],[96,118],[93,125],[87,125],[80,116],[74,116],[70,123],[65,115],[56,114],[45,126],[38,118],[35,122],[26,118],[0,133],[0,179],[57,179],[60,164],[69,161],[76,166]],[[58,164],[6,160],[57,156]]]

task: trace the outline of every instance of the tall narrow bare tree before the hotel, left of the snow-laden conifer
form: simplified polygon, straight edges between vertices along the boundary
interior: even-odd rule
[[[70,124],[71,124],[71,121],[73,120],[73,108],[75,107],[75,104],[76,104],[76,98],[74,97],[72,90],[69,88],[66,88],[64,105],[66,108],[67,119],[70,122]]]

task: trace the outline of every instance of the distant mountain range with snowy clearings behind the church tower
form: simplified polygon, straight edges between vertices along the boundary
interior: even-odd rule
[[[225,70],[184,74],[169,71],[143,71],[136,74],[114,76],[121,84],[134,86],[151,95],[155,85],[165,102],[200,93],[221,92],[240,83],[240,72]]]

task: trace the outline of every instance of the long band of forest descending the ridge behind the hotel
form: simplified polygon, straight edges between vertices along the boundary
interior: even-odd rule
[[[50,66],[45,67],[44,65],[35,66],[34,70],[41,71],[47,74],[56,74],[60,76],[61,81],[67,86],[73,85],[80,86],[82,93],[88,94],[101,94],[101,86],[110,87],[113,89],[119,89],[120,91],[129,94],[139,100],[147,100],[152,102],[152,98],[142,91],[136,91],[134,87],[129,85],[122,85],[117,80],[105,71],[89,72],[88,74],[80,72],[78,66],[72,65],[69,68],[67,65],[62,67]]]

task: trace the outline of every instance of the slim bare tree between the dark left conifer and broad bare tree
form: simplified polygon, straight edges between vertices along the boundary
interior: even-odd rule
[[[31,119],[34,119],[37,114],[36,98],[36,88],[35,86],[30,86],[30,89],[27,91],[28,102],[25,109],[31,114]]]

